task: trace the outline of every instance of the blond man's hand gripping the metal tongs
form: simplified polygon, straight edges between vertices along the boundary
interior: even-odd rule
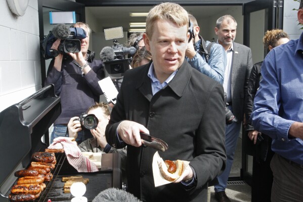
[[[142,145],[140,132],[149,134],[149,131],[143,125],[129,120],[121,122],[117,131],[120,138],[126,144],[133,145],[135,147],[140,147]]]

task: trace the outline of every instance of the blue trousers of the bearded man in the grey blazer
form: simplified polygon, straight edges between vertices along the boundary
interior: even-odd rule
[[[228,106],[228,108],[233,112],[231,106]],[[241,123],[242,122],[240,123],[234,122],[230,125],[227,125],[225,128],[225,147],[226,147],[226,156],[227,156],[226,168],[224,172],[218,177],[219,184],[214,186],[215,192],[225,191],[225,188],[227,186],[228,177],[232,169],[235,150],[239,139]]]

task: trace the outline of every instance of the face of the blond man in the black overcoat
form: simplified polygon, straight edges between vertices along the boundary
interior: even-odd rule
[[[187,31],[187,25],[179,27],[167,20],[157,20],[151,38],[144,33],[145,47],[151,52],[161,83],[182,65],[189,38]]]

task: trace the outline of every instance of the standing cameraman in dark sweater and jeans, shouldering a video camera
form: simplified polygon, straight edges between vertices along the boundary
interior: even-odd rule
[[[79,53],[58,52],[60,39],[51,47],[57,54],[50,63],[45,85],[55,85],[55,92],[61,97],[62,112],[55,120],[50,143],[54,138],[68,136],[69,119],[98,102],[100,95],[103,94],[98,85],[99,80],[104,78],[102,62],[93,60],[94,53],[88,50],[91,29],[88,24],[82,22],[77,22],[73,27],[80,27],[86,32],[86,37],[80,41]],[[91,133],[82,131],[78,133],[76,141],[84,141],[91,137],[93,137]]]

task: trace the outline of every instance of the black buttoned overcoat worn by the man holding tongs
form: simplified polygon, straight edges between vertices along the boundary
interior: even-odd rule
[[[151,61],[152,62],[152,61]],[[225,169],[225,110],[223,86],[198,72],[184,60],[166,87],[152,95],[151,65],[127,70],[106,128],[109,144],[121,148],[116,130],[122,120],[145,126],[164,140],[165,160],[188,160],[197,185],[186,190],[181,183],[154,186],[151,147],[127,145],[128,191],[143,201],[206,201],[207,183]]]

